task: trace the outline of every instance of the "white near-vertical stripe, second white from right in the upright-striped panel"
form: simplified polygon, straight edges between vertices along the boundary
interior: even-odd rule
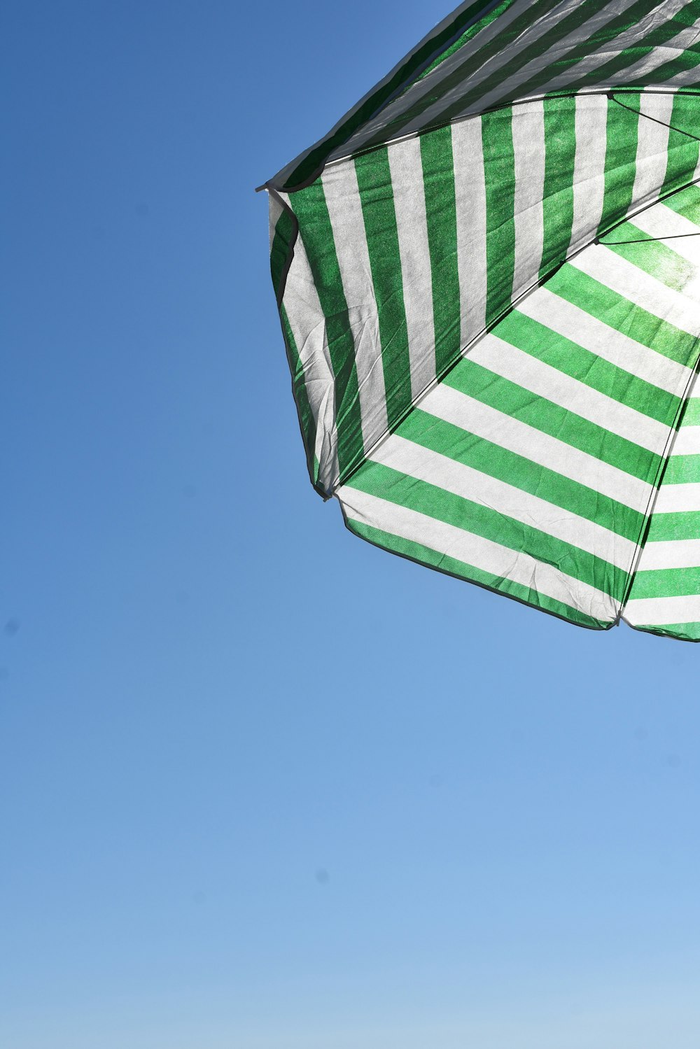
[[[574,219],[569,252],[577,251],[598,232],[606,192],[608,99],[576,97]]]

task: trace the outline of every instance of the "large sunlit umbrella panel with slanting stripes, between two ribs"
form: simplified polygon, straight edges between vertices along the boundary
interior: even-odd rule
[[[351,531],[580,625],[616,621],[698,358],[686,260],[650,277],[660,245],[627,242],[640,233],[588,248],[462,356],[339,488]]]

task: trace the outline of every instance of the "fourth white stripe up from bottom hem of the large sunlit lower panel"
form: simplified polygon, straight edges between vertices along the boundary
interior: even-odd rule
[[[610,433],[616,433],[657,455],[663,453],[669,440],[669,427],[663,423],[620,404],[495,335],[485,336],[466,356],[468,360]]]

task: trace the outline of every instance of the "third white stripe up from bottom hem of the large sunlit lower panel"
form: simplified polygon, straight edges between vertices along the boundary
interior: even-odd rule
[[[430,390],[421,408],[634,510],[644,512],[649,506],[652,488],[645,481],[449,386]]]

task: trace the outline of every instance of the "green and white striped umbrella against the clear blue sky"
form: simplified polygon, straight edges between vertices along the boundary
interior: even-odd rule
[[[267,183],[356,535],[700,640],[700,0],[463,3]]]

